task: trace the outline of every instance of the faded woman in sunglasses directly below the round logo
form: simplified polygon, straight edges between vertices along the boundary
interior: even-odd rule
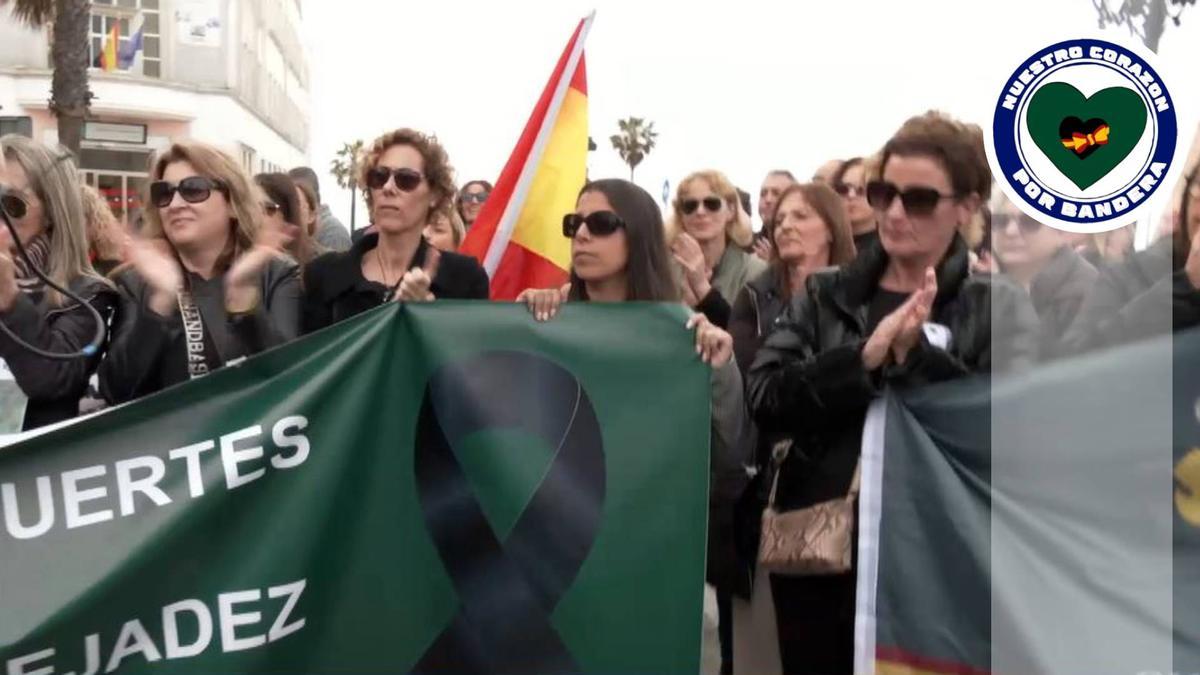
[[[1096,268],[1075,252],[1064,232],[1021,213],[1003,193],[992,198],[991,214],[996,263],[1028,292],[1042,323],[1038,351],[1049,358],[1060,351],[1058,342],[1096,283]]]

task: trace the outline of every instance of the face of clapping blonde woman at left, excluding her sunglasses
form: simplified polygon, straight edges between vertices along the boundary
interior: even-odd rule
[[[178,186],[179,181],[199,173],[191,162],[181,160],[167,165],[161,180]],[[185,201],[175,192],[170,203],[158,209],[158,216],[167,240],[176,249],[222,251],[233,231],[233,208],[216,187],[209,191],[205,199],[196,203]]]

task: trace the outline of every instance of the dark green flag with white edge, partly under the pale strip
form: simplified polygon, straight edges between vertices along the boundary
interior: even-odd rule
[[[1200,673],[1200,331],[889,392],[856,673]]]

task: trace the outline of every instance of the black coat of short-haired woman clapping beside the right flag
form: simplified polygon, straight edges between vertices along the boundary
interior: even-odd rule
[[[758,429],[796,442],[780,473],[781,509],[847,492],[866,408],[886,384],[1007,371],[1036,359],[1038,322],[1028,297],[1006,279],[968,276],[967,247],[955,237],[937,267],[930,317],[949,329],[948,348],[923,334],[904,365],[868,372],[868,307],[887,264],[887,252],[875,246],[841,269],[809,276],[808,292],[791,301],[750,369],[749,405]],[[992,312],[1007,321],[994,324]]]

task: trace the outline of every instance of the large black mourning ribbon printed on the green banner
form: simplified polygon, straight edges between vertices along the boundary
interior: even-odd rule
[[[538,436],[554,449],[504,542],[455,456],[466,436],[499,429]],[[421,401],[415,474],[425,526],[461,604],[413,673],[578,673],[551,623],[604,509],[600,423],[578,380],[524,352],[482,352],[442,366]]]

